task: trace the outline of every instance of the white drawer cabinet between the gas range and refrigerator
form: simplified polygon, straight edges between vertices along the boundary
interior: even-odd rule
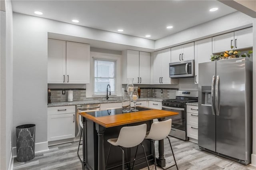
[[[198,106],[187,105],[187,136],[197,143],[198,140]]]

